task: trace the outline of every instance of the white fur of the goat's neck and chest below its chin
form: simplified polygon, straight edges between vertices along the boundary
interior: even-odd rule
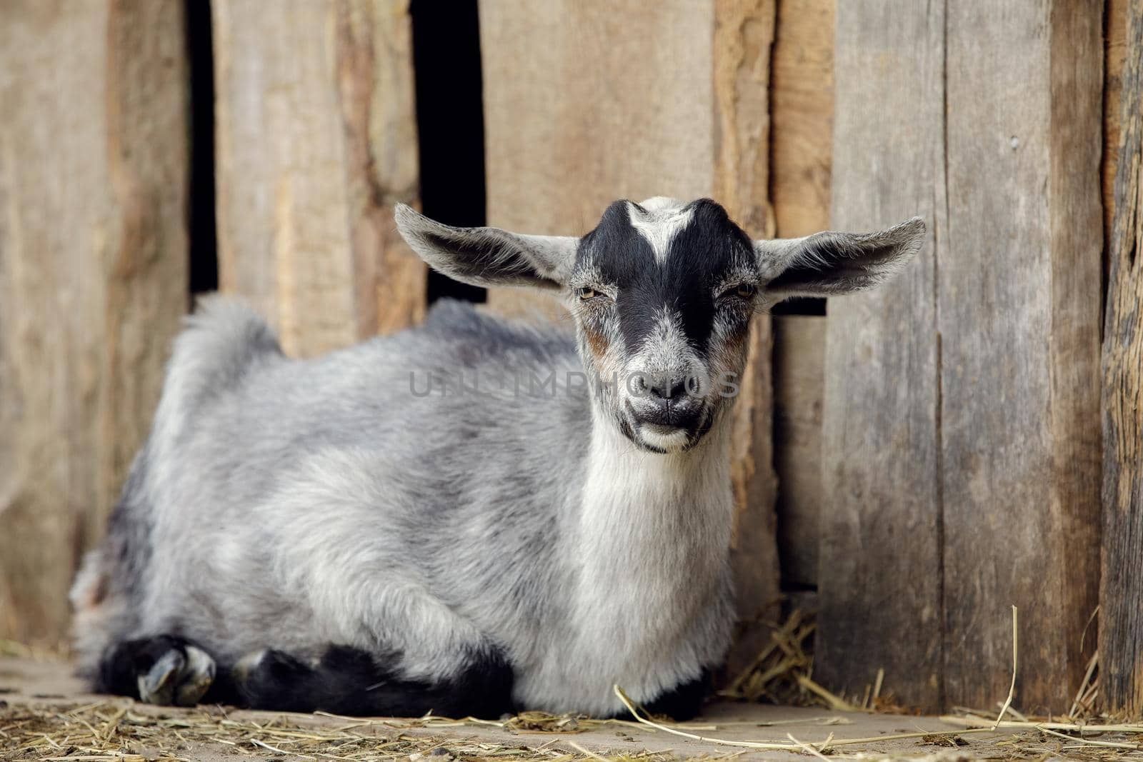
[[[733,514],[725,457],[644,452],[596,430],[563,548],[568,621],[519,675],[518,698],[554,711],[565,708],[555,697],[566,708],[620,711],[615,683],[650,700],[717,659],[730,626],[720,597]]]

